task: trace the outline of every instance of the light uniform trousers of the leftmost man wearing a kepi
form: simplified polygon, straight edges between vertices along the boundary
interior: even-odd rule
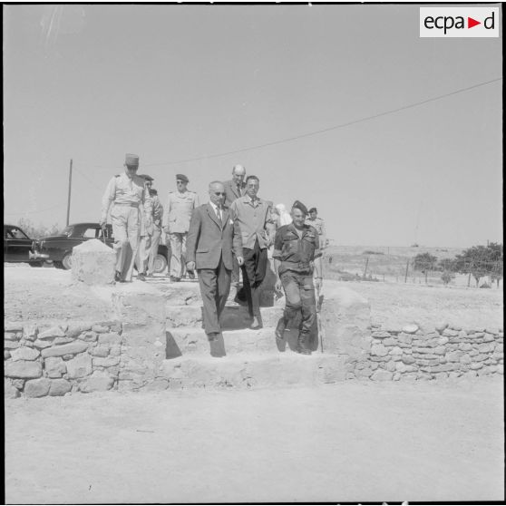
[[[111,211],[112,235],[116,252],[116,271],[123,281],[131,281],[133,264],[139,248],[141,216],[139,208],[114,205]]]

